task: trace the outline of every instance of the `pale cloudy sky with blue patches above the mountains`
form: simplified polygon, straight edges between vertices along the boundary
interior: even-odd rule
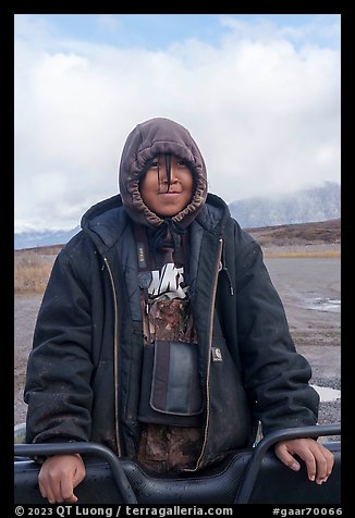
[[[197,141],[227,202],[340,184],[340,14],[16,14],[15,232],[118,193],[133,127]]]

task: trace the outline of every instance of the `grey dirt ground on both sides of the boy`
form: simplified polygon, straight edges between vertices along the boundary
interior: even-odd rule
[[[340,259],[268,258],[297,350],[311,365],[311,383],[341,388]],[[25,421],[23,386],[41,295],[16,295],[14,307],[14,423]],[[340,422],[341,399],[320,404],[319,423]],[[335,437],[334,437],[335,439]]]

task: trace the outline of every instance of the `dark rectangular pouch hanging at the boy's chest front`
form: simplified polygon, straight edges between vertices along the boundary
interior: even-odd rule
[[[203,423],[198,345],[158,340],[144,350],[138,419],[178,427]]]

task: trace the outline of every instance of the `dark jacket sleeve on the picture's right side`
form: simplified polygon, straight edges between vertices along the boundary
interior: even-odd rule
[[[236,304],[244,385],[264,433],[315,424],[319,396],[311,369],[292,340],[260,246],[246,239],[236,264]]]

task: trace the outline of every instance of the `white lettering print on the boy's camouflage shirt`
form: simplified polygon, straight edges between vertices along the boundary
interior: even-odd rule
[[[168,298],[185,298],[187,286],[181,287],[184,283],[184,269],[175,268],[173,262],[164,264],[160,272],[154,270],[151,272],[151,282],[148,287],[150,297],[160,297],[166,295]]]

